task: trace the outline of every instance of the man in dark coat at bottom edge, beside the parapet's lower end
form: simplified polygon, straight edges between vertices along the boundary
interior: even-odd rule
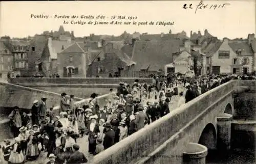
[[[67,160],[67,164],[80,164],[80,163],[86,163],[88,160],[86,156],[84,156],[83,153],[79,152],[79,145],[74,144],[73,145],[73,150],[74,153],[70,156],[70,158]]]

